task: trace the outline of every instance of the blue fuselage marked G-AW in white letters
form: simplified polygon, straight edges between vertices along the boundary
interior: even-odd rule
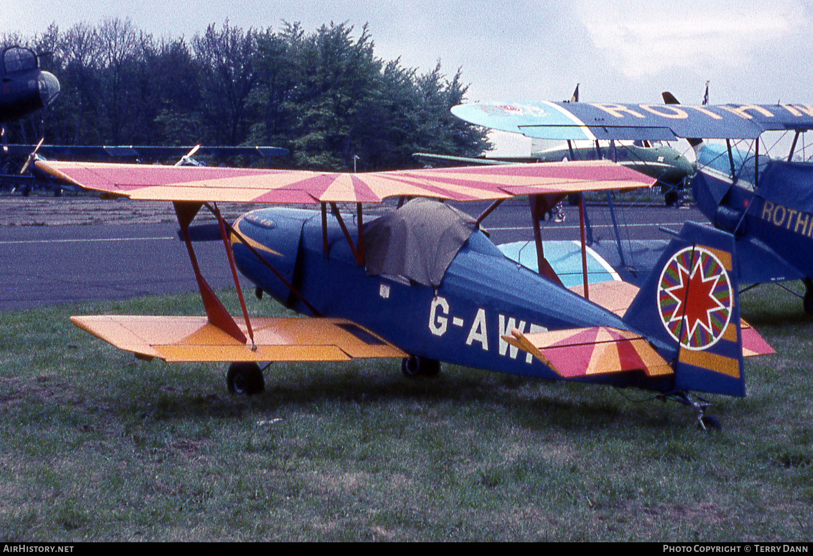
[[[472,233],[434,290],[401,276],[368,275],[333,217],[324,253],[321,222],[315,211],[269,208],[244,215],[235,228],[320,315],[353,320],[409,354],[559,378],[502,336],[513,328],[629,329],[617,315],[509,260],[480,231]],[[351,238],[357,241],[357,234],[351,232]],[[233,252],[237,267],[255,285],[295,311],[311,313],[245,245],[234,242]]]

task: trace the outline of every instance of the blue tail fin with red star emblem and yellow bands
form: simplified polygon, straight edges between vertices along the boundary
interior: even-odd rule
[[[676,390],[745,396],[734,237],[686,222],[624,321],[675,369]]]

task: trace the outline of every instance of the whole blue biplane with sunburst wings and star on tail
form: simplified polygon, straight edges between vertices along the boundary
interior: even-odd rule
[[[654,390],[718,425],[695,392],[744,396],[743,355],[772,353],[741,323],[733,236],[686,224],[640,289],[563,287],[509,260],[480,223],[506,198],[544,211],[570,193],[649,187],[608,161],[363,174],[36,161],[103,197],[174,203],[206,316],[80,315],[94,336],[167,362],[230,362],[232,392],[258,393],[260,362],[400,358],[407,376],[454,363],[526,376]],[[412,198],[375,219],[363,203]],[[444,204],[491,200],[473,218]],[[268,202],[228,224],[218,202]],[[337,203],[351,203],[352,214]],[[217,218],[242,315],[233,317],[195,258],[189,225]],[[584,226],[582,226],[584,230]],[[537,234],[538,237],[538,234]],[[584,243],[584,241],[582,242]],[[250,318],[237,271],[310,318]],[[575,291],[574,291],[575,290]]]

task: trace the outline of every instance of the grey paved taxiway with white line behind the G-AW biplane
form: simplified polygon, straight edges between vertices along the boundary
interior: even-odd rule
[[[459,206],[477,215],[486,205]],[[578,239],[578,211],[567,206],[565,213],[563,223],[543,223],[544,239]],[[594,237],[613,237],[606,207],[589,206],[588,214]],[[665,239],[659,226],[678,230],[685,220],[706,221],[695,208],[662,206],[620,207],[618,216],[623,239]],[[495,243],[533,240],[527,201],[504,202],[483,224]],[[194,291],[197,284],[177,229],[174,223],[0,226],[0,311]],[[212,287],[233,286],[222,241],[194,245]],[[243,285],[246,293],[253,291],[247,281]]]

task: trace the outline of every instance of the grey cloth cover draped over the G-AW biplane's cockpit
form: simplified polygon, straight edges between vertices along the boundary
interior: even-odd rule
[[[364,227],[367,274],[406,276],[434,288],[476,219],[442,202],[416,198]]]

